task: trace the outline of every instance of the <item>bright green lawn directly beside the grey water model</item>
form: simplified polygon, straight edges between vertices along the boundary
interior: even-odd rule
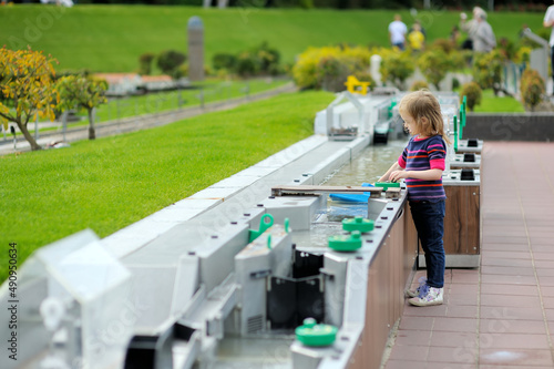
[[[105,237],[314,133],[334,95],[287,93],[69,148],[0,156],[0,235],[19,264],[84,228]],[[248,144],[245,144],[248,143]],[[0,280],[8,253],[0,253]]]

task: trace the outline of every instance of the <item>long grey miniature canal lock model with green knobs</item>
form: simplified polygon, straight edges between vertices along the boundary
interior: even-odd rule
[[[441,100],[449,126],[456,99]],[[418,239],[402,184],[325,184],[373,142],[360,126],[350,140],[314,135],[104,239],[83,230],[37,250],[17,291],[0,290],[19,307],[18,359],[0,367],[379,368]],[[479,186],[462,171],[445,184]],[[363,214],[334,212],[327,195],[342,192],[369,193]],[[10,319],[1,310],[0,325]]]

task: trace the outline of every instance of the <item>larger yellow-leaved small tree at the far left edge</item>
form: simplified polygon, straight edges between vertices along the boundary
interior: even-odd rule
[[[49,57],[50,58],[50,57]],[[0,49],[0,123],[8,129],[13,122],[31,144],[31,150],[41,150],[27,124],[37,116],[54,120],[54,107],[60,101],[53,83],[55,75],[52,62],[42,52]]]

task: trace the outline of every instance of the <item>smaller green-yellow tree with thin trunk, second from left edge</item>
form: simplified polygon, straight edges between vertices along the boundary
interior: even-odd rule
[[[58,81],[58,91],[61,98],[59,107],[62,111],[75,106],[86,110],[89,114],[89,140],[96,137],[92,112],[94,107],[107,102],[105,98],[106,90],[107,83],[104,80],[82,75],[68,75]]]

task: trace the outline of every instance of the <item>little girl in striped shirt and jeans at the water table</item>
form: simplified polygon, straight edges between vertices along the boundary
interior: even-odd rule
[[[406,178],[408,201],[425,252],[427,281],[408,290],[409,303],[417,306],[442,304],[444,286],[444,187],[442,171],[449,140],[443,130],[441,106],[429,91],[411,92],[399,103],[400,116],[412,137],[398,162],[379,182]]]

